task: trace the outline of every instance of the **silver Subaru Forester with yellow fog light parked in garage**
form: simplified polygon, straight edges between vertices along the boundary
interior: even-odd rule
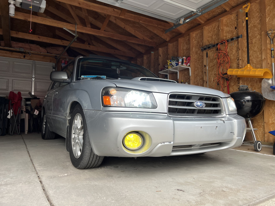
[[[245,136],[245,119],[228,94],[159,79],[125,60],[77,57],[51,72],[51,80],[42,106],[42,138],[65,137],[79,169],[98,167],[104,156],[233,148]]]

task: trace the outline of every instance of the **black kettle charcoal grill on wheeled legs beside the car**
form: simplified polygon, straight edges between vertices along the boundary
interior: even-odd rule
[[[262,149],[262,143],[256,140],[255,132],[251,119],[257,117],[264,110],[264,96],[257,91],[235,91],[230,93],[234,99],[238,115],[248,121],[249,127],[247,130],[251,131],[254,141],[254,149],[259,152]]]

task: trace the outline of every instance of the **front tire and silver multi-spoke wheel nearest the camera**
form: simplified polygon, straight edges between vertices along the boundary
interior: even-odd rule
[[[103,156],[94,154],[90,143],[87,124],[81,106],[73,109],[69,127],[69,153],[71,162],[78,169],[98,167]]]

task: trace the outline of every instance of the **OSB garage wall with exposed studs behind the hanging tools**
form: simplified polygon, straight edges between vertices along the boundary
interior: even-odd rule
[[[270,40],[267,38],[267,30],[275,31],[274,18],[274,0],[259,0],[251,4],[248,11],[248,29],[249,29],[249,52],[250,64],[254,68],[267,67],[271,70],[271,52]],[[223,16],[211,23],[205,23],[203,27],[198,27],[189,35],[170,42],[167,46],[157,49],[154,53],[147,55],[137,62],[141,65],[150,67],[151,71],[157,76],[164,78],[165,75],[159,74],[159,69],[166,64],[166,60],[171,56],[191,56],[191,72],[189,77],[188,70],[182,70],[177,74],[169,75],[169,79],[181,82],[188,82],[198,86],[207,86],[206,77],[206,52],[201,51],[201,47],[207,44],[216,44],[221,40],[230,39],[242,34],[243,38],[228,42],[228,55],[230,57],[230,68],[243,68],[247,65],[247,49],[246,49],[246,25],[245,12],[234,10],[232,13]],[[227,93],[226,83],[217,84],[217,60],[215,55],[216,48],[208,50],[208,76],[209,88],[218,89]],[[225,82],[225,81],[224,81]],[[240,85],[247,85],[251,90],[261,92],[262,78],[238,78],[231,76],[229,81],[230,92],[238,91]],[[258,117],[252,119],[256,138],[263,143],[271,143],[275,141],[275,137],[268,131],[275,130],[275,101],[266,100],[264,112]],[[247,139],[251,136],[248,134]]]

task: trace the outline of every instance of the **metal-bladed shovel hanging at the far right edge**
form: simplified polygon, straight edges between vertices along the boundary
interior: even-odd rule
[[[264,98],[269,100],[275,100],[275,63],[274,63],[274,46],[273,46],[273,39],[275,34],[271,38],[273,30],[270,29],[270,32],[267,31],[267,36],[270,39],[270,47],[271,47],[271,60],[272,60],[272,73],[273,77],[271,79],[263,79],[262,80],[262,94]]]

